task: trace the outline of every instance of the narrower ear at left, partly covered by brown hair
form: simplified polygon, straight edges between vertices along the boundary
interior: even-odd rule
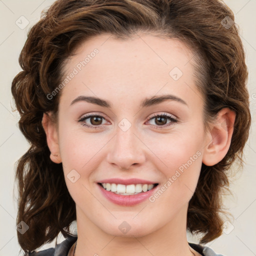
[[[57,136],[57,125],[52,119],[50,112],[43,113],[42,126],[46,134],[47,145],[50,150],[50,159],[55,163],[61,162],[59,153],[58,136]]]

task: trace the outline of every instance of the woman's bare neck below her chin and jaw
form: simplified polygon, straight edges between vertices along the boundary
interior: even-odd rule
[[[117,236],[98,228],[77,208],[75,256],[199,255],[187,242],[186,213],[184,207],[171,221],[146,235]]]

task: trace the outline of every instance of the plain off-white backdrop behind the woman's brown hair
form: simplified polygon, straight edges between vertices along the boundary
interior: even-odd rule
[[[53,0],[0,0],[0,256],[18,255],[16,235],[16,195],[14,163],[28,148],[17,127],[18,114],[11,110],[10,91],[13,77],[21,70],[18,56],[28,29],[39,20],[40,12]],[[248,90],[252,126],[244,150],[243,170],[231,180],[233,196],[225,196],[224,207],[233,219],[223,226],[223,234],[207,243],[226,256],[256,255],[256,0],[225,0],[235,14],[249,69]],[[22,20],[22,21],[20,21]],[[217,42],[216,42],[217,43]],[[73,222],[75,228],[75,222]],[[58,236],[58,242],[63,240]],[[197,242],[188,234],[188,240]],[[54,246],[54,241],[40,249]]]

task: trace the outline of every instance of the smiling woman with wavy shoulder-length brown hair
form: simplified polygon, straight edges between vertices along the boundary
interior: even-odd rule
[[[11,87],[31,143],[16,169],[26,255],[216,255],[203,243],[250,126],[233,20],[219,0],[58,0],[42,15]]]

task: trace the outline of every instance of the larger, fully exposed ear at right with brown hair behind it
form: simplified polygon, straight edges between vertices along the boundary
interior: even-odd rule
[[[202,162],[212,166],[221,161],[226,155],[233,134],[235,112],[225,107],[222,108],[206,135],[206,146],[203,150]]]

